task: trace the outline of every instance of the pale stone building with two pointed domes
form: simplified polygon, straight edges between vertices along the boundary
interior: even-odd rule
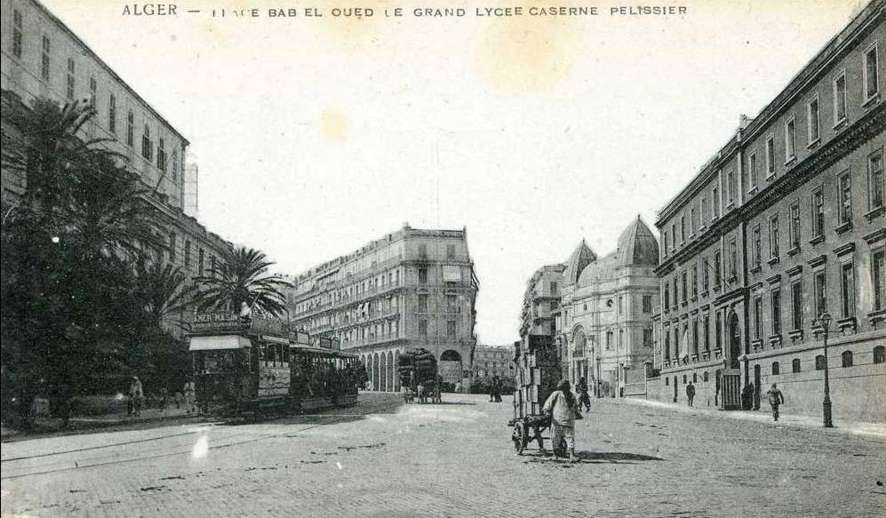
[[[564,372],[599,397],[645,393],[657,264],[658,242],[639,217],[614,252],[596,258],[582,242],[567,263],[556,320]]]

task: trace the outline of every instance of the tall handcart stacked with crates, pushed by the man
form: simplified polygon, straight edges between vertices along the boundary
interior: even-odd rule
[[[518,454],[532,441],[544,449],[542,433],[551,426],[551,418],[542,410],[548,396],[557,390],[561,378],[560,355],[553,337],[528,335],[514,343],[514,417],[508,421],[511,440]],[[559,447],[560,445],[555,445]]]

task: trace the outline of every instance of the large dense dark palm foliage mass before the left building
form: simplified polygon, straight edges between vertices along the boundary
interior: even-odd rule
[[[3,167],[26,182],[19,204],[4,207],[2,354],[12,391],[3,399],[6,410],[16,397],[28,427],[38,392],[69,396],[132,363],[145,314],[133,260],[162,244],[150,191],[101,140],[83,138],[91,107],[37,99],[9,109]]]

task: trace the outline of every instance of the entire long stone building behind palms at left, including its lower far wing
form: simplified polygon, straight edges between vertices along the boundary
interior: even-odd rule
[[[162,218],[168,244],[156,252],[157,259],[173,262],[189,277],[208,272],[230,244],[183,212],[188,140],[42,4],[2,0],[0,7],[4,145],[20,137],[5,116],[16,104],[30,107],[38,97],[92,104],[97,115],[83,127],[84,139],[105,139],[103,145],[156,187],[156,196],[147,201]],[[20,171],[3,168],[4,214],[14,210],[26,185]],[[180,332],[178,326],[170,330]]]

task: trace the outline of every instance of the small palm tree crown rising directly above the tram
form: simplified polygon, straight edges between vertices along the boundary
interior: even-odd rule
[[[274,263],[264,252],[237,246],[226,250],[221,264],[208,277],[195,279],[200,286],[197,309],[238,309],[243,303],[280,317],[286,312],[286,296],[280,291],[291,286],[268,274]]]

